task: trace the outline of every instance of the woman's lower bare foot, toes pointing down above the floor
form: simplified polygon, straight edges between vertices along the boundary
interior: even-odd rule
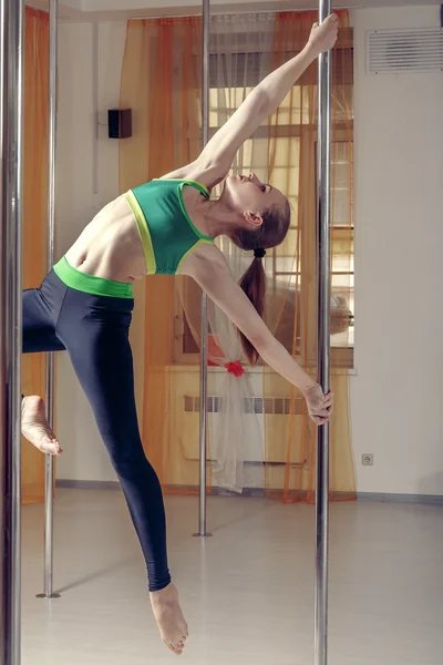
[[[150,595],[163,642],[177,656],[182,655],[188,630],[179,606],[176,586],[171,583],[166,589],[152,592]]]

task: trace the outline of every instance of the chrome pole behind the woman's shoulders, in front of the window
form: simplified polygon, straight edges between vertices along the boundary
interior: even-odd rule
[[[210,34],[210,0],[203,0],[203,103],[202,125],[203,145],[209,137],[209,34]],[[202,296],[202,330],[200,330],[200,478],[199,478],[199,516],[197,536],[208,536],[207,533],[207,364],[208,364],[208,311],[207,295]]]

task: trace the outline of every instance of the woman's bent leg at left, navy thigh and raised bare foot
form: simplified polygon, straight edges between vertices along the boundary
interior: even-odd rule
[[[64,346],[55,335],[54,311],[59,298],[48,297],[48,286],[23,291],[23,354],[62,351]],[[47,420],[44,401],[40,396],[23,397],[21,405],[21,431],[28,441],[44,453],[60,454],[62,449]]]

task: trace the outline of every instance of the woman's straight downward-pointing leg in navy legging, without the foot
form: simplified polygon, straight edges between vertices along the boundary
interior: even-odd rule
[[[80,325],[79,325],[80,324]],[[86,393],[145,554],[150,591],[171,583],[166,520],[158,478],[138,432],[131,347],[125,331],[97,321],[80,321],[64,338]]]

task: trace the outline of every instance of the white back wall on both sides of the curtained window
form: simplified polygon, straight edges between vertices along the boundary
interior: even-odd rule
[[[369,28],[434,25],[439,8],[356,10],[357,376],[352,436],[359,490],[443,494],[439,268],[443,231],[443,82],[440,74],[369,76]],[[119,104],[125,24],[99,28],[99,108]],[[99,194],[92,191],[93,28],[60,34],[59,254],[117,193],[117,142],[100,127]],[[58,477],[113,480],[114,473],[69,359],[59,364]],[[361,454],[374,453],[374,467]]]

